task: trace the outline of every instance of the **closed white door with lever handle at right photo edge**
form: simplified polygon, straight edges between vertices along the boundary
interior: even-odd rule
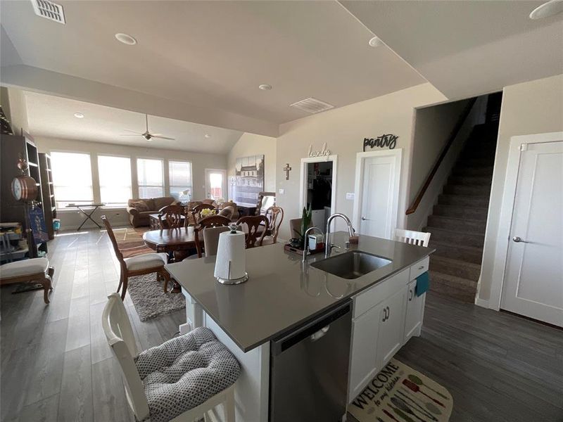
[[[563,141],[524,146],[500,305],[563,326]]]

